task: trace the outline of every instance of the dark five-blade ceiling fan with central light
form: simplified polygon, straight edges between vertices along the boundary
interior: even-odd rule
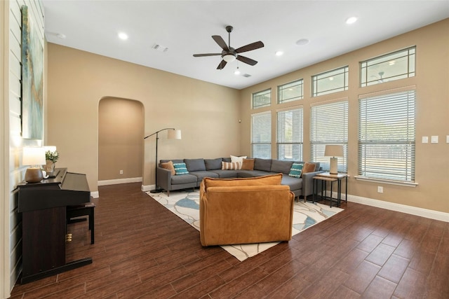
[[[251,50],[255,50],[258,48],[262,48],[264,43],[262,41],[256,41],[255,43],[250,43],[246,46],[240,48],[232,48],[231,47],[231,32],[232,26],[227,26],[226,31],[228,33],[228,44],[222,39],[219,35],[213,35],[212,38],[215,43],[218,44],[223,50],[222,53],[206,53],[206,54],[194,54],[194,57],[203,57],[203,56],[218,56],[221,55],[222,61],[218,64],[217,69],[223,69],[228,62],[232,62],[234,60],[240,60],[241,62],[245,62],[246,64],[255,65],[257,61],[252,60],[248,57],[239,55],[239,53],[248,52]]]

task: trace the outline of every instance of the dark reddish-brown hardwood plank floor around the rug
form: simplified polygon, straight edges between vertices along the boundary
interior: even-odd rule
[[[449,298],[449,223],[349,202],[239,262],[140,190],[99,188],[95,244],[69,225],[67,260],[93,263],[16,285],[11,298]],[[50,232],[49,232],[50,233]]]

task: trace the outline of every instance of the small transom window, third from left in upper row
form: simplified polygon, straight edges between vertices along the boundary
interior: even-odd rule
[[[311,77],[312,97],[348,89],[349,67],[326,71]]]

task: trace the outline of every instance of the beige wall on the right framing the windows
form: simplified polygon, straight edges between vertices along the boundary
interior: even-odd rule
[[[250,115],[251,113],[272,111],[276,120],[276,109],[302,105],[304,108],[304,160],[310,158],[309,120],[310,105],[347,97],[349,100],[349,194],[353,198],[363,197],[413,207],[449,212],[449,144],[445,138],[449,134],[449,19],[437,22],[393,39],[376,43],[339,57],[314,64],[290,74],[246,88],[241,92],[242,130],[241,150],[250,155]],[[416,45],[416,76],[391,81],[366,88],[358,87],[358,62]],[[323,71],[349,65],[349,90],[333,95],[310,97],[311,76]],[[283,83],[304,79],[304,99],[285,104],[276,104],[276,87]],[[389,90],[415,85],[417,90],[416,121],[416,187],[396,186],[385,183],[357,181],[358,145],[358,95],[380,90]],[[272,88],[272,106],[250,109],[253,92]],[[273,131],[275,132],[275,124]],[[422,144],[422,136],[439,136],[438,144]],[[272,153],[276,155],[276,135],[272,134]],[[377,186],[384,187],[384,193],[377,193]]]

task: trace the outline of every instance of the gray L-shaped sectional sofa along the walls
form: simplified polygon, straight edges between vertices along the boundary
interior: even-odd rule
[[[267,174],[282,174],[282,185],[290,186],[290,191],[295,197],[303,197],[313,194],[313,177],[321,171],[319,162],[315,163],[315,171],[302,174],[302,177],[296,178],[289,176],[293,161],[283,161],[274,159],[254,159],[253,170],[243,169],[222,169],[222,162],[231,162],[231,158],[215,159],[173,159],[161,160],[160,162],[172,161],[173,163],[185,163],[189,174],[172,175],[169,169],[157,167],[157,186],[167,191],[170,195],[171,190],[180,190],[186,188],[199,187],[205,177],[232,179],[248,178],[254,176],[265,176]]]

